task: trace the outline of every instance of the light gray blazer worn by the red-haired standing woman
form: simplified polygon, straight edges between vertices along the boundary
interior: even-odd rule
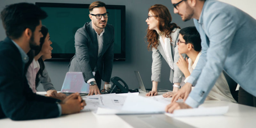
[[[178,52],[178,39],[179,39],[179,28],[174,28],[173,33],[171,34],[172,37],[172,42],[171,42],[171,47],[168,48],[168,53],[171,59],[171,64],[172,68],[170,71],[170,82],[171,83],[180,83],[183,73],[180,71],[179,67],[176,65],[178,62],[180,56]],[[151,81],[156,81],[160,82],[160,77],[161,77],[161,66],[162,66],[162,58],[168,63],[167,57],[165,56],[163,46],[161,43],[158,44],[157,49],[152,48],[152,76],[151,76]],[[183,57],[186,56],[186,54],[182,54]]]

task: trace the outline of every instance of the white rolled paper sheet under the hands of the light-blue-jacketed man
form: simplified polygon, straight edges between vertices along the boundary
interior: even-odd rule
[[[217,116],[223,115],[228,112],[228,106],[222,107],[199,107],[199,108],[190,108],[190,109],[179,109],[174,110],[173,114],[165,113],[167,116],[171,117],[181,117],[181,116]]]

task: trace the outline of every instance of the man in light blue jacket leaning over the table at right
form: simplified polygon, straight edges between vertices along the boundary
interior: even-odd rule
[[[194,18],[202,40],[202,55],[188,82],[166,111],[196,108],[202,104],[224,70],[256,96],[256,20],[238,8],[216,0],[172,0],[174,13],[183,21]],[[191,91],[191,86],[196,85]],[[185,103],[177,103],[180,96]]]

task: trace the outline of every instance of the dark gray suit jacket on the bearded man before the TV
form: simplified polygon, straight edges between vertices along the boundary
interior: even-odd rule
[[[75,34],[76,54],[70,61],[69,71],[82,72],[84,81],[94,78],[92,71],[97,65],[100,77],[110,82],[114,58],[114,27],[107,24],[103,33],[102,52],[98,58],[98,39],[92,21],[84,24]]]

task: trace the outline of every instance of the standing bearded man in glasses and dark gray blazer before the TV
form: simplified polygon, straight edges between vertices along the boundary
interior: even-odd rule
[[[114,27],[107,24],[109,13],[105,5],[100,1],[90,4],[92,21],[76,31],[76,53],[70,61],[69,71],[82,72],[84,81],[89,83],[89,95],[100,94],[101,79],[109,84],[112,73]]]

